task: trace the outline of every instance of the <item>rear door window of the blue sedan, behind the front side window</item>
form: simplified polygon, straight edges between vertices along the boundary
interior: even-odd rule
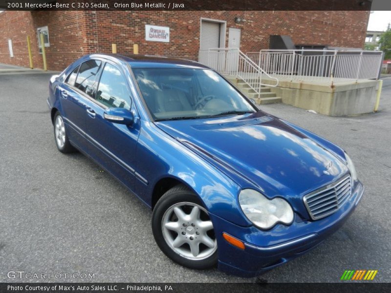
[[[75,86],[88,96],[94,97],[97,82],[97,73],[102,62],[98,60],[88,60],[80,65]]]

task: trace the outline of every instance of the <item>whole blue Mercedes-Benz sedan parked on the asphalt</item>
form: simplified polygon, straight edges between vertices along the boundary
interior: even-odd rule
[[[153,209],[157,245],[189,268],[261,274],[325,240],[364,191],[343,149],[200,63],[88,55],[51,78],[47,103],[59,151]]]

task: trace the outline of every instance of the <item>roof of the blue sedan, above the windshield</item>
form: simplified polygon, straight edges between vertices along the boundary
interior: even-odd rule
[[[171,57],[139,54],[91,54],[90,57],[116,58],[129,63],[132,68],[199,68],[210,69],[201,63]]]

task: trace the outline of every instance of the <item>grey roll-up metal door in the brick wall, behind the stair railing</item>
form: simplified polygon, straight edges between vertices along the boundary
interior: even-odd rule
[[[199,41],[199,62],[207,62],[208,49],[218,47],[220,47],[220,23],[202,21]]]

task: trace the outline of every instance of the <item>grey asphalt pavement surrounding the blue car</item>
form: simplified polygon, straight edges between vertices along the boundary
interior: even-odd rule
[[[261,106],[345,148],[366,192],[316,249],[243,279],[168,259],[154,242],[146,206],[84,155],[57,150],[46,105],[50,74],[8,69],[0,71],[0,282],[44,281],[9,279],[10,271],[90,273],[84,281],[93,282],[339,282],[345,270],[361,269],[378,270],[376,282],[390,281],[391,78],[377,113],[335,118]]]

